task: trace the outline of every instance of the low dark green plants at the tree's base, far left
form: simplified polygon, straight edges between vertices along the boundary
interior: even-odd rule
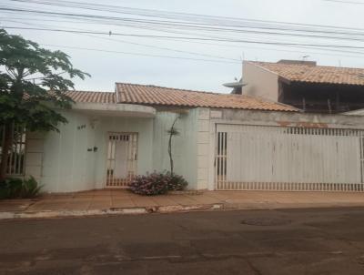
[[[0,182],[0,199],[30,199],[39,195],[42,186],[35,178],[5,178]]]

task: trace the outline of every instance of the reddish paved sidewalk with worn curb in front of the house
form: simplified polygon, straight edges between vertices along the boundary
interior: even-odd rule
[[[0,219],[168,213],[214,209],[299,209],[364,207],[364,193],[204,191],[142,197],[102,189],[39,199],[0,200]]]

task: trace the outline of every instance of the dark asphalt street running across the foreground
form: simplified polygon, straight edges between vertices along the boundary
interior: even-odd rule
[[[364,274],[364,209],[0,221],[0,274]]]

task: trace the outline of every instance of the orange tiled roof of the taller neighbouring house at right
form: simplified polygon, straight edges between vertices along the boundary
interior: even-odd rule
[[[289,81],[364,86],[364,69],[268,62],[249,62]]]

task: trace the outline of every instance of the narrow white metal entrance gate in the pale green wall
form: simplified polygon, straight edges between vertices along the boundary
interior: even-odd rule
[[[137,133],[108,133],[106,187],[126,188],[136,176]]]

